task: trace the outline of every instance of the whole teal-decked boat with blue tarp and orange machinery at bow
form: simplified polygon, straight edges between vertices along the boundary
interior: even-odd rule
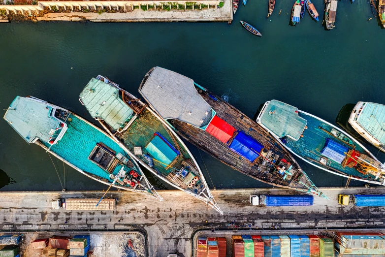
[[[277,101],[266,102],[257,123],[294,155],[336,175],[384,185],[384,165],[342,130]]]

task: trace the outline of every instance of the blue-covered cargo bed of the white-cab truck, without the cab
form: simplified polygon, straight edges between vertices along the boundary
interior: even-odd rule
[[[266,195],[266,206],[311,206],[313,195]]]

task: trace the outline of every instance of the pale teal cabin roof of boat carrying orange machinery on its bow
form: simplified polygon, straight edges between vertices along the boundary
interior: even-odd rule
[[[278,137],[286,135],[298,140],[307,121],[298,116],[298,109],[289,104],[271,100],[266,106],[260,122]]]

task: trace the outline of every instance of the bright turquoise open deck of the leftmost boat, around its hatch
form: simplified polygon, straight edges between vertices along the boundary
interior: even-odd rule
[[[88,160],[88,157],[96,146],[96,143],[103,143],[112,150],[116,151],[116,153],[121,153],[127,158],[128,155],[117,143],[115,143],[115,141],[87,122],[72,114],[69,118],[71,118],[72,121],[66,122],[68,129],[63,138],[57,144],[53,145],[50,150],[79,169],[112,182],[107,171],[100,168],[94,162]],[[50,147],[48,143],[43,143],[46,147]],[[122,165],[118,164],[112,174],[116,175],[121,167]],[[137,167],[134,167],[134,169],[136,172],[141,174]]]

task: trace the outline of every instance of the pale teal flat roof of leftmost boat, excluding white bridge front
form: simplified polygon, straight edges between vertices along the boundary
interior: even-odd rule
[[[50,106],[31,98],[17,96],[4,119],[14,128],[28,143],[38,137],[48,142],[52,136],[51,129],[56,129],[59,121],[49,116]]]

